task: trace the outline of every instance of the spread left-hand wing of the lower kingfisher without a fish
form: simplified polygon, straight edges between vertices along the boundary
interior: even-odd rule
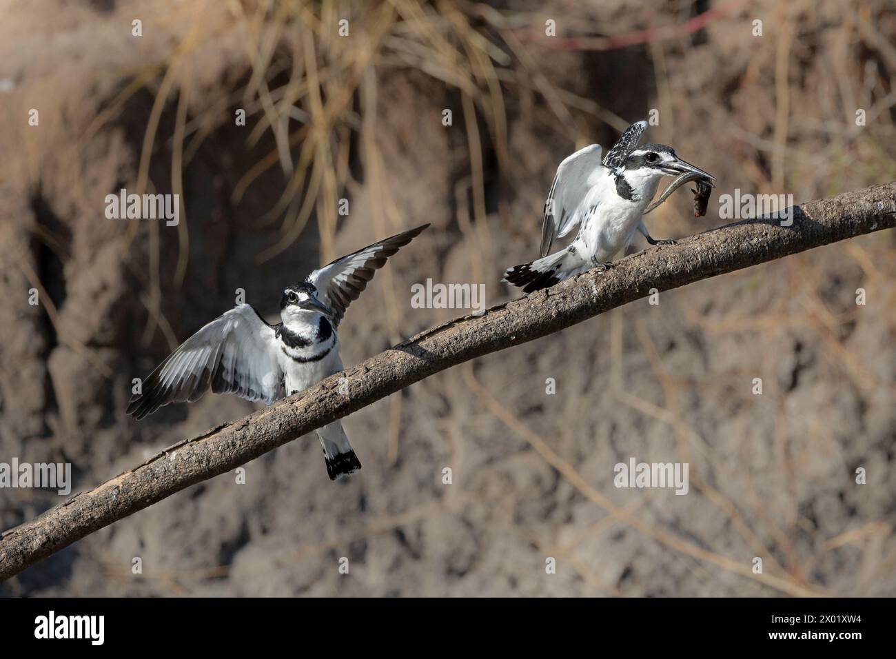
[[[280,397],[276,330],[247,304],[230,309],[182,343],[143,380],[127,413],[142,419],[162,405],[195,401],[211,388],[250,401]]]

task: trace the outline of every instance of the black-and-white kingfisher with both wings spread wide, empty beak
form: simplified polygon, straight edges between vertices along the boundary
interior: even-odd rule
[[[385,238],[342,256],[288,286],[282,322],[270,325],[248,304],[237,305],[182,343],[142,383],[127,413],[142,419],[168,403],[193,402],[210,388],[273,403],[342,370],[339,327],[352,300],[400,247],[428,227]],[[331,480],[361,468],[340,420],[317,430]]]

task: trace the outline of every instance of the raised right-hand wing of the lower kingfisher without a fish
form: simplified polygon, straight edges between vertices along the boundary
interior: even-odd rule
[[[424,224],[417,229],[384,238],[373,245],[358,249],[357,252],[337,258],[331,264],[326,264],[308,275],[306,281],[314,284],[318,299],[332,308],[334,326],[340,324],[349,304],[358,299],[367,282],[374,278],[375,271],[386,264],[386,259],[416,238],[428,226]]]

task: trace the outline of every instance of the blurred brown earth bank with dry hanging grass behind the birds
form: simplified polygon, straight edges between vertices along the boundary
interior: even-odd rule
[[[706,217],[686,191],[653,212],[657,238],[727,223],[736,188],[799,204],[896,178],[892,0],[2,5],[0,461],[70,462],[74,491],[254,410],[125,416],[132,378],[237,289],[274,319],[285,284],[431,222],[349,309],[346,365],[458,315],[410,307],[427,277],[517,297],[499,280],[538,256],[557,164],[633,121],[718,179]],[[181,195],[180,223],[107,219],[122,187]],[[896,594],[894,245],[698,282],[429,377],[345,421],[349,481],[306,436],[0,594]],[[690,464],[689,493],[617,490],[630,457]],[[0,527],[60,500],[0,490]]]

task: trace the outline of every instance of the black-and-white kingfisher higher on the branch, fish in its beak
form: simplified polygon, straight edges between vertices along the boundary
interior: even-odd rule
[[[593,267],[606,267],[632,242],[635,230],[640,230],[650,245],[672,242],[650,238],[642,220],[659,179],[683,174],[707,180],[713,177],[678,158],[670,146],[639,147],[645,130],[646,121],[626,128],[603,161],[600,144],[591,144],[560,163],[545,204],[542,258],[508,269],[504,282],[529,293]],[[547,256],[554,238],[562,238],[580,223],[569,247]]]

